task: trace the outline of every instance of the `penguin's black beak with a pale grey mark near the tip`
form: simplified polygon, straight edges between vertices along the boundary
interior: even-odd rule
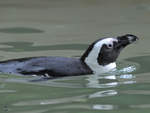
[[[118,42],[115,44],[116,49],[122,49],[126,47],[127,45],[135,42],[138,40],[138,37],[131,34],[126,34],[123,36],[117,37]]]

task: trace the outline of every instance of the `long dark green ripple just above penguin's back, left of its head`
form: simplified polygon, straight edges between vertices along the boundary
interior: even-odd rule
[[[5,42],[1,45],[8,47],[0,48],[0,51],[25,52],[25,51],[46,51],[46,50],[84,50],[88,44],[59,44],[34,46],[33,42]]]

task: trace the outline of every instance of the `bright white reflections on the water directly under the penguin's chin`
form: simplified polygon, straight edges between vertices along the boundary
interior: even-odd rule
[[[107,73],[105,75],[92,75],[88,76],[87,87],[89,88],[111,88],[116,87],[120,84],[133,84],[136,83],[133,74],[128,74],[135,71],[134,66],[129,66],[120,70],[115,70],[113,72]],[[116,73],[116,75],[115,75]]]

